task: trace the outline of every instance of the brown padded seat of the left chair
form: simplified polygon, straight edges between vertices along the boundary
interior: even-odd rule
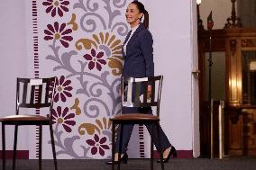
[[[50,118],[40,115],[27,115],[19,114],[0,118],[0,121],[11,122],[11,121],[50,121]]]

